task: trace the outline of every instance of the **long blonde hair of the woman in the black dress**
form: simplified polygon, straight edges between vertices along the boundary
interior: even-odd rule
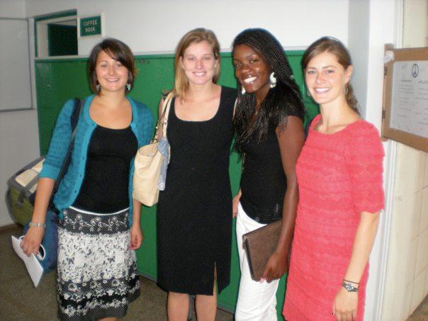
[[[186,77],[186,73],[181,67],[180,57],[184,57],[184,52],[190,45],[201,43],[202,41],[206,41],[211,45],[213,48],[214,58],[217,60],[213,82],[216,83],[220,77],[220,44],[218,43],[217,37],[215,37],[213,31],[205,28],[190,30],[183,36],[183,38],[181,38],[179,45],[177,45],[174,59],[175,77],[172,92],[182,100],[185,99],[186,91],[188,90],[188,79]]]

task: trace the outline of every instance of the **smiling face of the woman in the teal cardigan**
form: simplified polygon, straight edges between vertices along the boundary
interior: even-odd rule
[[[118,60],[114,60],[104,50],[96,59],[96,79],[101,86],[101,93],[106,91],[123,91],[128,82],[128,69]]]

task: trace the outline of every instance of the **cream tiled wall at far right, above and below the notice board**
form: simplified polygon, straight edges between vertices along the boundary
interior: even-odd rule
[[[403,5],[402,40],[397,47],[423,47],[428,1],[404,0]],[[406,320],[428,295],[428,153],[393,144],[395,182],[381,313],[385,320],[395,321]]]

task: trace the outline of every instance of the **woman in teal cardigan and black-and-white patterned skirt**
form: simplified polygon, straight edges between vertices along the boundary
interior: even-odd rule
[[[84,101],[72,159],[53,203],[59,212],[57,296],[61,320],[116,320],[140,295],[134,250],[140,247],[141,204],[133,201],[137,148],[152,133],[147,106],[125,95],[133,87],[130,48],[106,39],[89,57],[94,95]],[[72,135],[73,100],[57,118],[40,173],[30,228],[21,242],[36,253],[47,206]]]

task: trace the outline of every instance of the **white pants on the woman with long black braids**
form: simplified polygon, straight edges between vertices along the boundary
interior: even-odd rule
[[[236,321],[277,321],[276,317],[276,290],[279,280],[267,283],[253,281],[249,271],[247,255],[242,246],[242,235],[256,230],[265,224],[257,223],[249,218],[238,205],[236,221],[236,238],[240,254],[241,280],[238,302],[235,311]]]

